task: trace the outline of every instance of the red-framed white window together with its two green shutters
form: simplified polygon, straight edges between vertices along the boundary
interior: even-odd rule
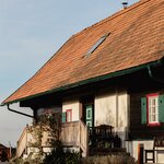
[[[155,93],[141,98],[141,122],[148,126],[164,122],[164,95]]]

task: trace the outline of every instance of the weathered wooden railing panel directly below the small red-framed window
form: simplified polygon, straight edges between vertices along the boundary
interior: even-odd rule
[[[61,141],[66,147],[77,147],[87,155],[87,128],[82,121],[62,124]]]

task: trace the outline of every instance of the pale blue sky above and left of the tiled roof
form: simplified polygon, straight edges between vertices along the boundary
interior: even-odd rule
[[[122,1],[0,0],[0,101],[28,80],[71,35],[121,10]],[[20,109],[17,105],[12,108]],[[32,120],[0,107],[0,143],[15,147],[27,122]]]

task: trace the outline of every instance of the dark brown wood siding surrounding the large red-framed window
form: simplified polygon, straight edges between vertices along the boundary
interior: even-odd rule
[[[154,127],[141,124],[141,97],[156,92],[159,90],[130,94],[130,139],[153,139],[154,136],[164,134],[164,124]]]

